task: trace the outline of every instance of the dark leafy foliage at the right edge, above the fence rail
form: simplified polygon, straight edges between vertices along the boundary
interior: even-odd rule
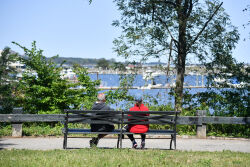
[[[219,57],[222,57],[220,55]],[[217,59],[207,64],[207,69],[212,71],[207,77],[207,86],[210,87],[207,92],[196,96],[198,103],[205,103],[210,109],[214,110],[214,115],[222,116],[250,116],[249,112],[249,72],[250,67],[244,63],[237,63],[234,59],[227,61],[224,66],[220,66],[224,59]],[[222,82],[216,82],[221,79]],[[237,83],[234,83],[237,82]],[[216,87],[211,89],[211,87]]]

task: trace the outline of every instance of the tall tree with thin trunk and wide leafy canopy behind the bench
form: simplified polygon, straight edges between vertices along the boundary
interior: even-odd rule
[[[237,28],[219,0],[114,0],[122,28],[114,40],[115,51],[125,58],[170,57],[176,66],[176,109],[181,110],[185,66],[188,58],[214,66],[231,61],[239,39]]]

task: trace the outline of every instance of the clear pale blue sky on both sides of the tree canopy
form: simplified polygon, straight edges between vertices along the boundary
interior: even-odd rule
[[[250,64],[250,26],[247,29],[242,26],[250,20],[250,12],[242,11],[250,5],[250,0],[223,2],[232,24],[241,34],[233,57]],[[11,42],[31,48],[36,41],[46,57],[123,61],[112,49],[112,41],[121,31],[111,24],[119,16],[113,0],[94,0],[91,5],[88,0],[0,0],[0,50],[8,46],[23,54]]]

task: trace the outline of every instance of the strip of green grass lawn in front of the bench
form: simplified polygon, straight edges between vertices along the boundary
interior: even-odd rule
[[[250,153],[188,152],[172,150],[79,149],[79,150],[0,150],[0,166],[249,166]]]

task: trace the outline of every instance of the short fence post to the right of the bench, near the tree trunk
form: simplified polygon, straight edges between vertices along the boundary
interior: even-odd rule
[[[199,123],[196,126],[196,137],[200,139],[205,139],[207,137],[207,125],[202,122],[202,117],[206,116],[206,111],[198,110],[196,115],[199,116]]]

